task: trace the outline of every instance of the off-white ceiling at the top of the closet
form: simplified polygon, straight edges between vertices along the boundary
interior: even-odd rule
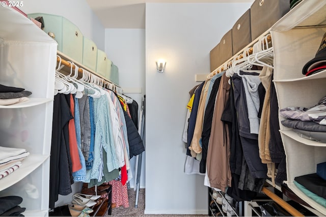
[[[104,28],[145,28],[145,3],[252,3],[254,0],[86,0]]]

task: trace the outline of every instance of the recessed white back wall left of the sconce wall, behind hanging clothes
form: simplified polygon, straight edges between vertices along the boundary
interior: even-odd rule
[[[119,85],[127,90],[126,96],[138,103],[140,111],[145,95],[145,29],[105,29],[105,52],[119,68]],[[145,152],[142,163],[140,185],[145,188]],[[130,160],[130,165],[134,175],[135,157]],[[131,188],[133,183],[132,179]]]

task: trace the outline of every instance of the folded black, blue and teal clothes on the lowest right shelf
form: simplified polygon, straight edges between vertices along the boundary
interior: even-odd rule
[[[316,173],[295,177],[293,183],[308,197],[326,206],[326,162],[317,164]]]

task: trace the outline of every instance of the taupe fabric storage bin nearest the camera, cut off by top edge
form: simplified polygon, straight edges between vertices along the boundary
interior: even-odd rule
[[[289,0],[255,0],[250,7],[251,40],[258,38],[289,10]]]

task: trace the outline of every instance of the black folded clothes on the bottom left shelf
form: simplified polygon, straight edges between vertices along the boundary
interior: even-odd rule
[[[19,204],[22,198],[18,196],[0,197],[0,216],[24,216],[21,214],[26,208],[22,208]]]

